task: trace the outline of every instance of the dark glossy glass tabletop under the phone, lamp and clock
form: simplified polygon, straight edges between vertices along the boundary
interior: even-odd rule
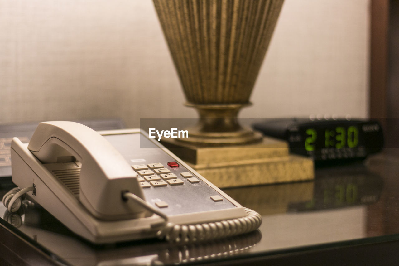
[[[255,232],[213,242],[93,245],[30,202],[15,214],[1,205],[0,222],[67,265],[190,264],[399,240],[399,157],[393,154],[316,169],[314,181],[223,189],[263,222]],[[11,188],[2,182],[0,196]]]

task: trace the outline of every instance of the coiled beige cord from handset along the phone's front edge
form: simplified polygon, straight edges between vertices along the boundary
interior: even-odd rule
[[[168,222],[168,216],[166,214],[160,212],[133,193],[125,192],[122,194],[122,198],[132,199],[147,210],[164,218],[166,225],[157,232],[157,236],[161,239],[165,238],[169,242],[191,243],[235,236],[237,234],[251,232],[257,229],[262,223],[262,217],[259,213],[249,208],[244,208],[247,216],[241,218],[195,225],[174,224],[173,222]]]

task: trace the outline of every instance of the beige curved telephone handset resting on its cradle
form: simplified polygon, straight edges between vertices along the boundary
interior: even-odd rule
[[[28,149],[42,163],[81,163],[79,201],[102,220],[138,218],[144,209],[123,202],[122,190],[144,198],[137,174],[120,153],[93,129],[68,121],[40,123]]]

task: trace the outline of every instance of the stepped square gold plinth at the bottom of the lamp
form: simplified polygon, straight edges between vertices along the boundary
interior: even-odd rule
[[[311,159],[289,155],[284,141],[263,138],[257,144],[196,147],[174,139],[162,144],[217,187],[285,183],[314,178]]]

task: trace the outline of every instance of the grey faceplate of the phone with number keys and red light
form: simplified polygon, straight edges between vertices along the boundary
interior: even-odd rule
[[[235,208],[235,205],[224,197],[216,202],[210,199],[211,196],[219,195],[217,189],[209,186],[205,179],[188,169],[179,159],[159,149],[157,141],[140,133],[104,135],[104,137],[120,151],[129,165],[133,165],[132,169],[144,178],[145,181],[140,182],[140,186],[143,188],[145,199],[155,208],[159,208],[155,202],[168,203],[168,207],[161,209],[165,214],[191,214]],[[145,168],[134,168],[139,164]],[[154,168],[157,166],[158,168]],[[144,175],[139,171],[144,171]]]

